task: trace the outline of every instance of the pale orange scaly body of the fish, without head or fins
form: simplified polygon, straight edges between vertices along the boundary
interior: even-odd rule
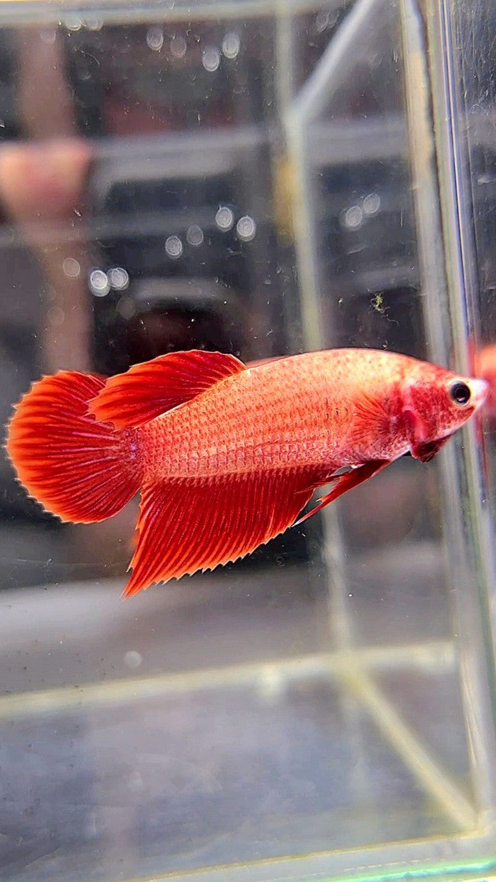
[[[335,350],[242,370],[147,423],[139,429],[147,480],[274,468],[328,473],[371,458],[394,459],[407,447],[395,392],[380,393],[380,365],[366,350],[358,353],[354,371],[352,360],[352,350]],[[357,403],[365,374],[378,390],[377,408],[366,414],[366,436]],[[387,440],[382,420],[390,423]]]

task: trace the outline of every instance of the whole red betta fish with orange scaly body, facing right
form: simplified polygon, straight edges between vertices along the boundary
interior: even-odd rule
[[[28,492],[63,520],[109,518],[141,490],[124,589],[137,594],[244,557],[324,484],[334,489],[304,518],[403,453],[431,460],[485,393],[483,380],[372,349],[256,367],[175,352],[110,379],[43,377],[15,409],[7,450]]]

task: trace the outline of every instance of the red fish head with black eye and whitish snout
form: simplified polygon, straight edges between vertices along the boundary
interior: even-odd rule
[[[402,421],[410,452],[431,460],[453,433],[470,420],[487,396],[483,379],[417,363],[402,383]]]

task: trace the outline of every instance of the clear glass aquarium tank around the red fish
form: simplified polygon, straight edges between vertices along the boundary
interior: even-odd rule
[[[496,4],[0,5],[0,410],[169,351],[496,340]],[[0,879],[496,873],[496,429],[120,599],[0,463]]]

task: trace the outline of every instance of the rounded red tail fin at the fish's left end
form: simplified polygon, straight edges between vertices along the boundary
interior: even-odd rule
[[[71,370],[43,377],[8,426],[6,448],[19,480],[63,520],[109,518],[139,490],[133,431],[116,432],[87,414],[104,385],[104,377]]]

